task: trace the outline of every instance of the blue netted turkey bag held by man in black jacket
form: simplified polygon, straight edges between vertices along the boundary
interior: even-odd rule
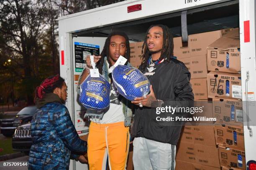
[[[112,78],[118,92],[128,100],[146,96],[150,91],[148,78],[134,67],[118,65],[112,71]]]

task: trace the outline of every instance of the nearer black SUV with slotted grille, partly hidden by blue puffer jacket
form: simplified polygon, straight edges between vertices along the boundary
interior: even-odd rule
[[[32,145],[30,125],[31,123],[27,123],[17,127],[13,135],[13,150],[29,153]]]

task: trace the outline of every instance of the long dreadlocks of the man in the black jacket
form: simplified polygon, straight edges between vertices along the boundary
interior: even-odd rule
[[[160,58],[159,60],[162,60],[162,59],[166,59],[167,62],[170,62],[171,61],[171,58],[173,57],[173,36],[172,36],[172,33],[170,32],[169,28],[166,26],[166,25],[151,25],[147,32],[146,32],[146,37],[144,39],[144,43],[142,45],[142,51],[141,53],[143,54],[142,55],[142,58],[143,58],[143,62],[140,66],[140,70],[145,70],[146,69],[146,66],[147,66],[147,62],[148,62],[148,59],[150,57],[150,51],[148,50],[148,45],[147,45],[147,34],[148,34],[148,31],[152,28],[152,27],[161,27],[162,30],[163,30],[163,47],[162,47],[162,50],[161,50],[161,55],[160,55]],[[146,49],[145,49],[145,52],[143,53],[143,49],[144,47],[146,46]]]

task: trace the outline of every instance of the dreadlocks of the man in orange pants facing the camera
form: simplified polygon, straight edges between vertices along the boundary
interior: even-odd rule
[[[127,36],[124,32],[111,32],[111,33],[108,35],[108,37],[107,37],[107,39],[106,39],[106,41],[105,41],[105,45],[104,45],[104,47],[103,47],[103,50],[102,50],[102,52],[101,52],[101,54],[100,54],[100,56],[101,56],[100,61],[97,62],[97,65],[96,65],[97,68],[99,69],[100,74],[102,74],[102,67],[103,67],[104,57],[105,57],[105,56],[107,56],[108,63],[109,63],[109,65],[110,65],[110,67],[112,66],[112,65],[111,65],[111,62],[110,62],[110,60],[109,60],[109,57],[110,57],[110,56],[109,56],[109,45],[110,45],[110,38],[111,38],[112,36],[114,36],[114,35],[120,35],[120,36],[122,36],[122,37],[125,38],[126,52],[125,52],[125,56],[123,56],[123,57],[125,57],[127,60],[129,60],[129,58],[130,58],[130,44],[129,44],[129,38],[128,38],[128,36]]]

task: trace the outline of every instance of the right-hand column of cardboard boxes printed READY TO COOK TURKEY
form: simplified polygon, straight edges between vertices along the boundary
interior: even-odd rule
[[[212,98],[215,140],[223,169],[245,170],[239,29],[207,48],[208,97]]]

